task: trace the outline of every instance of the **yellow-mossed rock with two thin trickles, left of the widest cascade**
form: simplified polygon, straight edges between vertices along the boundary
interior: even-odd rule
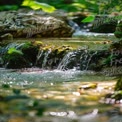
[[[38,52],[36,66],[46,69],[55,69],[62,61],[64,56],[71,50],[72,48],[66,45],[59,47],[43,45]]]

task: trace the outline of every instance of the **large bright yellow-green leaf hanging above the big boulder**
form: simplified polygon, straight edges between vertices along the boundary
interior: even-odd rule
[[[51,5],[48,5],[46,3],[40,3],[33,0],[30,0],[30,1],[24,0],[24,2],[22,3],[22,6],[28,6],[34,10],[42,9],[43,11],[48,12],[48,13],[52,13],[56,10],[56,8]]]

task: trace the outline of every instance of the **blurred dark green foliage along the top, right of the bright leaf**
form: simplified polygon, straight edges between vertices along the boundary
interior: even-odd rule
[[[121,11],[121,0],[38,0],[67,11],[90,11],[97,14],[109,14]]]

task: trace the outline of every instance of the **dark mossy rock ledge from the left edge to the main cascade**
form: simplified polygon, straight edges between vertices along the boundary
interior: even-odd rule
[[[57,68],[60,61],[71,51],[67,45],[44,45],[41,41],[10,43],[0,49],[1,59],[6,68]]]

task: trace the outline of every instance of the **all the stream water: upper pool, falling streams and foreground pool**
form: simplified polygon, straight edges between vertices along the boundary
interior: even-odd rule
[[[88,70],[96,52],[88,56],[87,46],[98,49],[96,43],[103,45],[113,37],[92,38],[60,39],[62,45],[73,46],[79,52],[81,47],[85,50],[80,55],[78,51],[67,53],[57,69],[44,69],[51,50],[44,54],[42,68],[1,68],[0,122],[122,122],[121,104],[103,100],[106,94],[114,91],[114,77]],[[43,41],[57,45],[54,39]],[[36,63],[42,54],[38,54]],[[78,69],[79,64],[67,69],[68,63],[77,55],[85,62],[83,69]],[[7,97],[3,99],[3,96]],[[39,113],[43,109],[41,116]]]

